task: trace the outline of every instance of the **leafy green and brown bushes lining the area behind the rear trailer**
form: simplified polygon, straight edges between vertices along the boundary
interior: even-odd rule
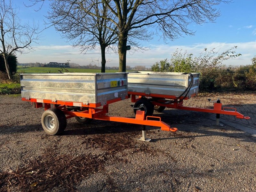
[[[239,89],[256,91],[256,56],[252,59],[252,65],[238,68],[224,68],[222,62],[231,58],[239,57],[234,51],[236,46],[225,52],[218,53],[214,49],[204,51],[199,57],[193,54],[184,54],[177,49],[172,53],[170,62],[161,60],[151,66],[152,71],[168,72],[199,72],[201,91],[225,91],[227,89]]]

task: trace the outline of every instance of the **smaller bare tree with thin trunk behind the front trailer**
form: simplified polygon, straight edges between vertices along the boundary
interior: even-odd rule
[[[79,47],[85,54],[87,50],[98,49],[100,45],[101,72],[104,73],[105,52],[113,48],[110,45],[115,45],[118,41],[117,27],[105,19],[113,17],[109,8],[105,4],[100,4],[98,0],[91,7],[92,14],[84,12],[80,8],[80,1],[74,0],[51,1],[50,8],[47,18],[71,45]]]

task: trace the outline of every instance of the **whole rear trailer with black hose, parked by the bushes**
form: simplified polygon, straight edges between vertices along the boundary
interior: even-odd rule
[[[162,112],[165,108],[175,108],[216,114],[216,125],[220,124],[220,114],[233,115],[240,119],[250,119],[236,111],[236,108],[223,107],[220,100],[214,102],[213,109],[183,106],[198,93],[199,73],[173,73],[135,71],[128,74],[128,97],[131,97],[134,113],[144,106],[145,115],[152,116],[154,110]]]

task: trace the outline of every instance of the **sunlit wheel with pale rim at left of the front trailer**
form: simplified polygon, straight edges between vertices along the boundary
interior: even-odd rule
[[[52,117],[52,120],[54,120],[54,124],[52,124],[53,126],[52,128],[51,127],[49,128],[49,126],[47,126],[45,123],[47,119],[50,119],[51,117]],[[41,122],[44,128],[44,131],[49,135],[58,135],[62,133],[67,127],[66,116],[58,108],[50,108],[44,111]]]

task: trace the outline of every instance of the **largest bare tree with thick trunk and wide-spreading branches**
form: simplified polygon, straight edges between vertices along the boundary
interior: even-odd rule
[[[166,42],[182,34],[194,35],[189,24],[213,22],[220,16],[216,5],[229,0],[102,0],[114,17],[106,18],[118,28],[119,71],[125,71],[127,40],[132,30],[135,35],[145,34],[155,28],[154,34]],[[81,0],[81,6],[87,14],[101,18],[91,12],[94,0]]]

